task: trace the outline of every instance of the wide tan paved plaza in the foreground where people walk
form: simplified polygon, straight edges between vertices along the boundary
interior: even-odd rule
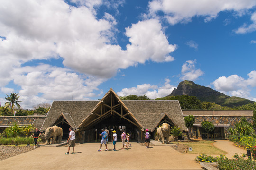
[[[153,146],[147,149],[131,143],[128,150],[121,142],[109,143],[109,151],[98,152],[99,143],[79,144],[75,154],[65,155],[67,147],[39,147],[0,161],[0,170],[202,170],[194,161],[198,155],[182,154],[172,147]],[[102,146],[105,150],[105,146]]]

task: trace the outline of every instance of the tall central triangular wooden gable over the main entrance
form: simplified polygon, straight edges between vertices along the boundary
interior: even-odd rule
[[[105,112],[102,111],[103,107],[107,108]],[[116,111],[116,109],[120,111]],[[104,97],[101,99],[100,102],[98,102],[94,109],[91,110],[90,114],[87,115],[87,117],[82,121],[78,128],[89,126],[95,122],[100,121],[101,119],[106,118],[110,114],[117,114],[120,117],[128,120],[130,123],[133,123],[137,127],[143,129],[143,126],[125,106],[125,104],[120,100],[119,96],[114,92],[112,88],[110,88],[108,93],[104,95]]]

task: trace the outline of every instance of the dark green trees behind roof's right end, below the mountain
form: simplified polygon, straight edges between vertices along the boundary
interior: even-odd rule
[[[179,100],[182,109],[202,109],[201,101],[195,96],[177,95],[156,98],[155,100]]]

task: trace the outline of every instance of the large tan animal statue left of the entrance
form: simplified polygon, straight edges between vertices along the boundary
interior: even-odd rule
[[[57,143],[61,142],[62,135],[63,135],[62,128],[55,125],[55,126],[52,126],[52,127],[48,127],[46,129],[45,134],[43,136],[40,136],[40,139],[43,142],[47,141],[47,144],[50,144],[50,140],[52,139],[51,144],[55,144],[55,142],[57,142]]]

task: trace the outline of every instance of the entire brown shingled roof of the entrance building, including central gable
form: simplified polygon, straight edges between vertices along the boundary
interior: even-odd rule
[[[41,130],[52,126],[62,115],[71,127],[84,127],[94,119],[101,121],[102,107],[109,109],[106,116],[118,114],[137,127],[154,129],[167,116],[173,124],[187,130],[183,113],[177,100],[127,100],[121,101],[110,89],[101,101],[54,101]],[[122,114],[120,113],[122,112]],[[104,118],[104,117],[102,117]]]

